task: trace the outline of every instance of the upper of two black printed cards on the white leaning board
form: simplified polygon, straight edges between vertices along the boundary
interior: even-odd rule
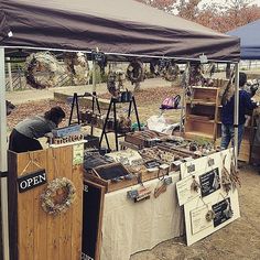
[[[218,167],[199,176],[202,196],[205,197],[220,188]]]

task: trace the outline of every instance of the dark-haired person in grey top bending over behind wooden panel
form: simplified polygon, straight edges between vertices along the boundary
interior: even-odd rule
[[[57,128],[64,118],[65,112],[57,106],[43,116],[24,119],[13,128],[9,138],[9,150],[17,153],[42,150],[37,139]]]

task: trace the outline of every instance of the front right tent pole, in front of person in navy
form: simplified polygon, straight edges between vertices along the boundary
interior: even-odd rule
[[[235,115],[234,115],[234,124],[235,127],[235,140],[234,140],[234,150],[235,150],[235,161],[236,167],[238,162],[238,111],[239,111],[239,63],[235,64]]]

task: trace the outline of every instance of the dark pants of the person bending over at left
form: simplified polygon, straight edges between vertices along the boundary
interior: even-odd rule
[[[9,150],[20,153],[42,149],[41,143],[36,139],[28,138],[15,129],[12,130],[9,138]]]

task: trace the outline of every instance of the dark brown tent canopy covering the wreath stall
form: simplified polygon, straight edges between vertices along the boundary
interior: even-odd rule
[[[234,62],[240,54],[238,39],[132,0],[0,0],[0,46]]]

